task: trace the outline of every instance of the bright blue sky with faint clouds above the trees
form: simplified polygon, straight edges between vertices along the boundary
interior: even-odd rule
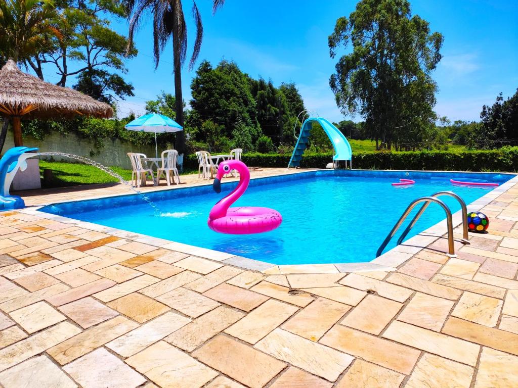
[[[190,8],[190,47],[194,38]],[[482,105],[492,104],[499,92],[514,94],[518,87],[518,2],[516,0],[411,0],[412,13],[430,23],[432,31],[444,35],[443,55],[433,77],[438,83],[435,110],[451,120],[479,120]],[[210,0],[197,0],[202,12],[205,37],[195,68],[202,59],[217,64],[222,58],[234,60],[242,71],[257,78],[271,78],[274,84],[294,81],[307,109],[328,120],[343,120],[329,88],[329,76],[336,59],[329,57],[327,37],[336,19],[349,16],[355,1],[226,0],[215,16]],[[114,28],[127,33],[125,21]],[[151,20],[143,23],[136,36],[139,55],[128,61],[126,78],[135,96],[120,103],[120,111],[143,113],[147,99],[161,90],[174,92],[171,44],[154,71]],[[185,66],[182,89],[190,99],[194,70]],[[71,85],[72,83],[70,83]],[[70,86],[67,85],[67,86]],[[346,118],[351,118],[347,117]],[[359,117],[352,117],[360,120]]]

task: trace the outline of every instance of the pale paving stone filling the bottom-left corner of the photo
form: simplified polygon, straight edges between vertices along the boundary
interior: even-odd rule
[[[77,388],[77,384],[44,355],[3,371],[0,384],[5,388]]]

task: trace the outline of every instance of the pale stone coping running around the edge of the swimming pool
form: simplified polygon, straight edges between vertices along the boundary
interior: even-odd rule
[[[290,171],[288,174],[297,174],[304,173],[308,171],[326,171],[325,169],[298,169],[295,171]],[[356,171],[391,171],[391,172],[448,172],[448,173],[481,173],[481,172],[466,172],[466,171],[438,171],[438,170],[360,170]],[[502,172],[503,173],[503,172]],[[514,185],[518,184],[518,174],[515,173],[505,173],[509,175],[514,175],[509,181],[502,183],[501,185],[495,187],[491,191],[488,191],[484,196],[479,199],[467,204],[468,212],[476,212],[481,210],[482,207],[492,202],[495,198],[499,197],[507,190],[512,188]],[[251,178],[253,180],[263,179],[271,176],[282,176],[284,174],[272,174],[268,176],[262,177],[254,177]],[[287,175],[287,174],[286,174]],[[189,187],[200,187],[200,186],[208,186],[211,185],[211,181],[207,181],[207,184],[195,184],[189,186],[182,187],[171,187],[165,186],[164,190],[174,190],[181,188],[189,188]],[[153,190],[153,191],[161,191]],[[102,195],[102,196],[94,196],[91,198],[83,198],[78,201],[84,200],[95,200],[101,198],[110,198],[110,197],[120,197],[125,196],[127,194],[116,194],[116,195]],[[44,206],[55,204],[55,203],[65,203],[65,202],[75,202],[74,200],[64,200],[59,202],[51,202],[46,205],[38,205],[33,207],[26,207],[24,209],[19,210],[20,213],[25,214],[33,214],[42,218],[51,219],[54,221],[59,221],[63,223],[68,223],[69,225],[74,225],[80,228],[94,230],[97,232],[102,232],[105,234],[109,234],[112,236],[127,238],[129,240],[133,240],[140,243],[149,244],[152,246],[156,246],[157,248],[165,248],[176,250],[182,253],[186,253],[188,255],[202,257],[209,260],[214,260],[217,262],[221,262],[227,265],[232,265],[236,267],[240,267],[246,270],[252,270],[257,272],[262,272],[267,275],[280,275],[280,274],[302,274],[302,273],[352,273],[352,272],[378,272],[378,271],[395,271],[398,266],[405,263],[411,257],[413,257],[416,253],[425,249],[428,245],[434,243],[435,241],[442,238],[446,233],[446,219],[437,222],[435,225],[427,228],[421,233],[409,238],[405,243],[397,245],[396,247],[390,249],[383,253],[383,255],[369,261],[369,262],[357,262],[357,263],[331,263],[331,264],[272,264],[260,260],[249,259],[246,257],[232,255],[230,253],[220,252],[208,248],[198,247],[195,245],[183,244],[179,242],[175,242],[172,240],[166,240],[164,238],[153,237],[142,233],[135,233],[126,231],[123,229],[107,227],[104,225],[99,225],[92,222],[80,221],[74,218],[68,218],[64,216],[54,215],[51,213],[41,212],[40,209]],[[458,212],[452,215],[453,218],[453,227],[457,228],[462,224],[462,212],[459,210]]]

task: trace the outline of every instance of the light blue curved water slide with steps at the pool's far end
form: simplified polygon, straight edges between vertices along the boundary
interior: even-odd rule
[[[352,159],[352,150],[351,145],[347,141],[347,138],[343,136],[343,133],[335,127],[331,122],[326,120],[323,117],[310,117],[303,124],[300,129],[300,135],[297,140],[297,145],[295,145],[295,149],[293,150],[293,155],[290,159],[290,163],[288,167],[299,167],[300,159],[302,159],[302,155],[308,146],[308,139],[311,132],[312,124],[316,122],[319,123],[322,129],[325,131],[329,140],[333,144],[333,148],[335,149],[335,155],[333,156],[333,160],[351,160]]]

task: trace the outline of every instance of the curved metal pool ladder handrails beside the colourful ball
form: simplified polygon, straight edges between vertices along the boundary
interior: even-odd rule
[[[446,222],[447,222],[447,228],[448,228],[448,256],[449,257],[457,257],[455,254],[455,245],[453,242],[453,220],[452,220],[452,212],[447,204],[445,204],[443,201],[438,199],[437,197],[441,196],[449,196],[455,198],[460,204],[462,209],[462,230],[463,230],[463,237],[461,242],[463,244],[469,244],[469,236],[468,236],[468,224],[467,224],[467,216],[468,216],[468,210],[466,208],[466,203],[464,200],[456,195],[453,191],[438,191],[435,194],[429,196],[429,197],[421,197],[418,198],[410,203],[408,205],[407,210],[399,217],[399,220],[396,222],[396,225],[394,225],[394,228],[390,231],[390,233],[386,236],[383,243],[378,248],[378,251],[376,252],[376,257],[381,256],[381,252],[383,252],[383,249],[389,244],[389,242],[392,240],[392,237],[396,234],[399,227],[402,225],[403,222],[407,219],[410,212],[413,210],[413,208],[421,202],[424,202],[423,206],[417,212],[417,214],[414,216],[412,221],[410,221],[409,225],[405,229],[403,233],[401,233],[401,236],[397,240],[397,245],[401,244],[404,238],[407,236],[407,234],[410,232],[410,230],[413,228],[415,223],[418,221],[418,219],[423,215],[424,211],[428,207],[428,205],[432,202],[435,202],[439,204],[443,209],[444,213],[446,213]]]

